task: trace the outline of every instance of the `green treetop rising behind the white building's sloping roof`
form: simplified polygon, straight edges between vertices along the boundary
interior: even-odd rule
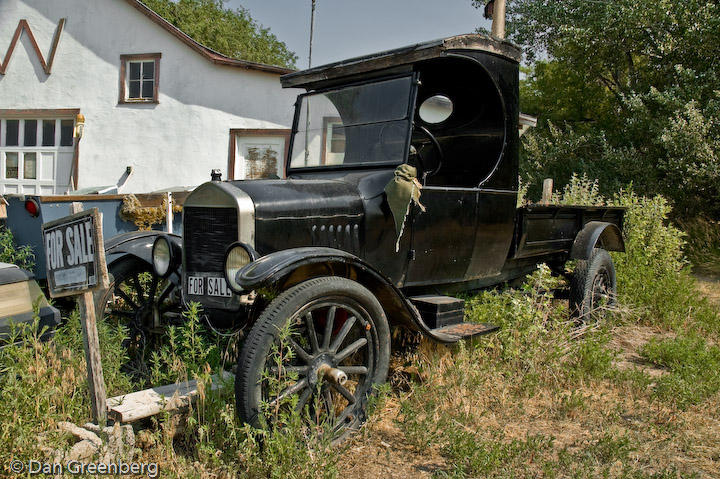
[[[225,8],[225,0],[143,0],[148,7],[193,39],[232,58],[295,68],[297,55],[244,8]]]

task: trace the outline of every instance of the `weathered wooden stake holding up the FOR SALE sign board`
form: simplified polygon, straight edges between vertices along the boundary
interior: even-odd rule
[[[70,214],[80,213],[82,204],[72,203]],[[102,228],[100,228],[102,234]],[[102,245],[102,242],[100,242]],[[97,248],[100,250],[101,248]],[[96,254],[103,256],[105,262],[105,251],[96,251]],[[107,274],[107,272],[105,272]],[[107,284],[107,279],[100,280],[100,284]],[[105,379],[102,373],[102,360],[100,358],[100,339],[97,333],[97,319],[95,317],[95,301],[92,291],[86,291],[78,297],[80,309],[80,323],[83,330],[83,346],[85,347],[85,362],[88,372],[88,389],[90,391],[90,403],[93,418],[98,425],[104,427],[107,423],[107,392],[105,391]]]

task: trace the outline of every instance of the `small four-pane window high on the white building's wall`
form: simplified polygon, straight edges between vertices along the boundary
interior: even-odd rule
[[[157,103],[160,54],[120,56],[119,103]]]

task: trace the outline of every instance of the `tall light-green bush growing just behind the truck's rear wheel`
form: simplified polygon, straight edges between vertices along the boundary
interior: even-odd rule
[[[720,332],[717,311],[697,294],[685,258],[686,234],[671,223],[672,207],[664,197],[639,196],[631,186],[608,199],[601,194],[598,180],[573,173],[568,184],[553,196],[553,201],[560,205],[627,209],[623,222],[625,252],[612,253],[612,256],[618,301],[631,308],[637,320],[676,329]],[[703,235],[697,235],[700,239],[694,240],[695,252],[701,249],[703,239],[715,238],[714,230],[703,227]],[[720,244],[720,239],[717,242]]]

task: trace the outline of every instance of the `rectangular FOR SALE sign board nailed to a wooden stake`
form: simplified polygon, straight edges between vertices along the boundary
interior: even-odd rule
[[[50,296],[107,288],[102,215],[97,208],[42,225]]]

